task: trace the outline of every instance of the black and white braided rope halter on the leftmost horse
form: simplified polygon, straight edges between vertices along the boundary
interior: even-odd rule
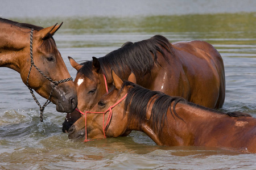
[[[33,44],[33,32],[34,32],[34,29],[32,28],[31,32],[30,32],[30,61],[31,61],[31,65],[30,65],[30,71],[28,71],[27,84],[26,85],[27,85],[28,89],[30,90],[30,93],[31,93],[33,99],[35,100],[36,104],[39,105],[39,108],[40,108],[40,121],[43,122],[44,108],[51,102],[51,97],[52,97],[52,92],[54,90],[54,87],[57,86],[60,83],[68,82],[68,81],[73,80],[73,79],[70,77],[70,78],[67,78],[67,79],[63,79],[63,80],[59,80],[59,81],[54,81],[51,78],[49,78],[48,76],[46,76],[45,74],[43,74],[43,72],[40,69],[38,69],[38,67],[36,67],[36,65],[34,63],[34,59],[33,59],[33,46],[32,46],[32,44]],[[40,105],[38,99],[36,99],[36,96],[35,96],[32,88],[28,86],[28,79],[30,78],[30,73],[31,73],[31,70],[32,70],[33,66],[35,67],[36,70],[39,71],[40,74],[42,74],[45,78],[47,78],[50,82],[53,83],[53,87],[52,87],[51,93],[49,94],[49,97],[46,100],[46,103],[44,103],[43,107]]]

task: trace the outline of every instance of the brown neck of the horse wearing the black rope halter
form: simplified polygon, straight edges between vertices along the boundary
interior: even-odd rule
[[[20,73],[20,53],[29,46],[29,30],[0,23],[0,39],[0,67],[10,67]]]

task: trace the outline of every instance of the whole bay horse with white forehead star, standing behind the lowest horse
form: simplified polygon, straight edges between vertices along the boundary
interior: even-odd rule
[[[77,70],[74,83],[80,111],[90,111],[113,86],[111,69],[122,80],[133,72],[144,88],[181,96],[204,107],[218,109],[224,103],[224,64],[220,53],[205,41],[171,44],[166,37],[156,35],[148,40],[126,42],[104,57],[93,57],[92,61],[79,64],[72,57],[69,61]],[[80,117],[80,112],[68,113],[63,132]]]

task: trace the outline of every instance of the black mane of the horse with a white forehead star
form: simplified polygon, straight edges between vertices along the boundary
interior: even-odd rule
[[[121,48],[98,58],[98,61],[104,74],[106,74],[106,70],[113,69],[117,75],[121,76],[125,75],[127,70],[130,70],[135,76],[143,77],[146,74],[150,74],[154,64],[158,63],[158,53],[162,54],[166,61],[169,62],[163,49],[175,56],[174,49],[166,37],[155,35],[147,40],[134,43],[126,42]],[[88,64],[91,64],[91,61],[81,63],[87,69]],[[85,71],[85,69],[82,69],[80,73],[82,71]]]

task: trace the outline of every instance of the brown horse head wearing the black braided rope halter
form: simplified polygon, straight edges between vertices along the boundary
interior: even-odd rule
[[[26,64],[20,65],[20,76],[38,94],[46,99],[50,96],[57,111],[72,112],[77,105],[76,89],[69,81],[70,74],[52,37],[61,24],[34,31],[30,47],[23,52],[26,57],[22,60]],[[32,55],[29,59],[28,54]]]

